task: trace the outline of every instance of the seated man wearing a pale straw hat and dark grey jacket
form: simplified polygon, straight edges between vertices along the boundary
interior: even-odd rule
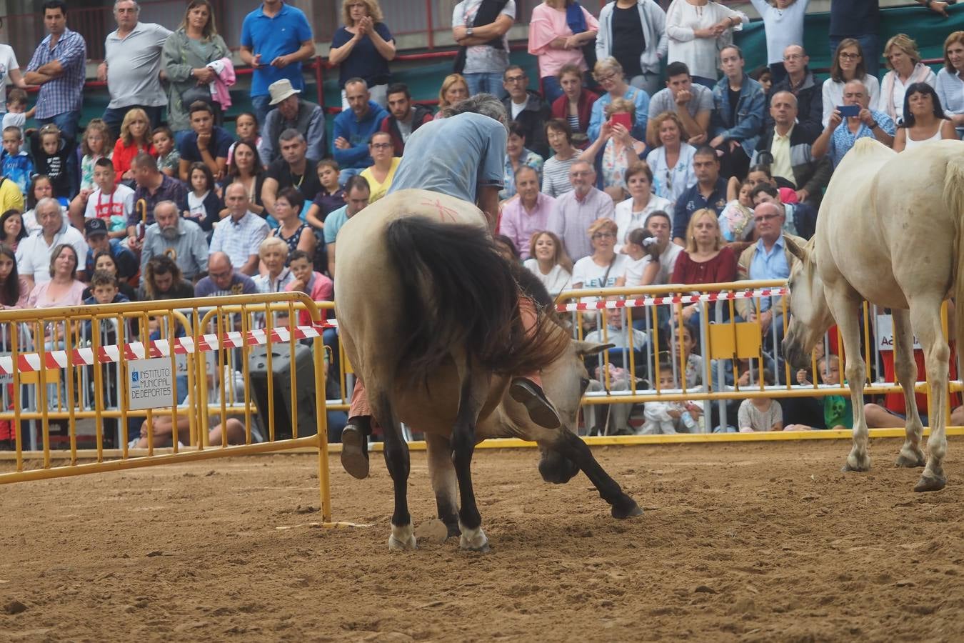
[[[291,86],[287,78],[276,80],[268,88],[273,107],[261,127],[261,143],[257,153],[265,166],[281,158],[278,139],[285,129],[296,129],[308,143],[306,157],[312,161],[325,158],[325,113],[315,103],[301,97],[301,90]]]

